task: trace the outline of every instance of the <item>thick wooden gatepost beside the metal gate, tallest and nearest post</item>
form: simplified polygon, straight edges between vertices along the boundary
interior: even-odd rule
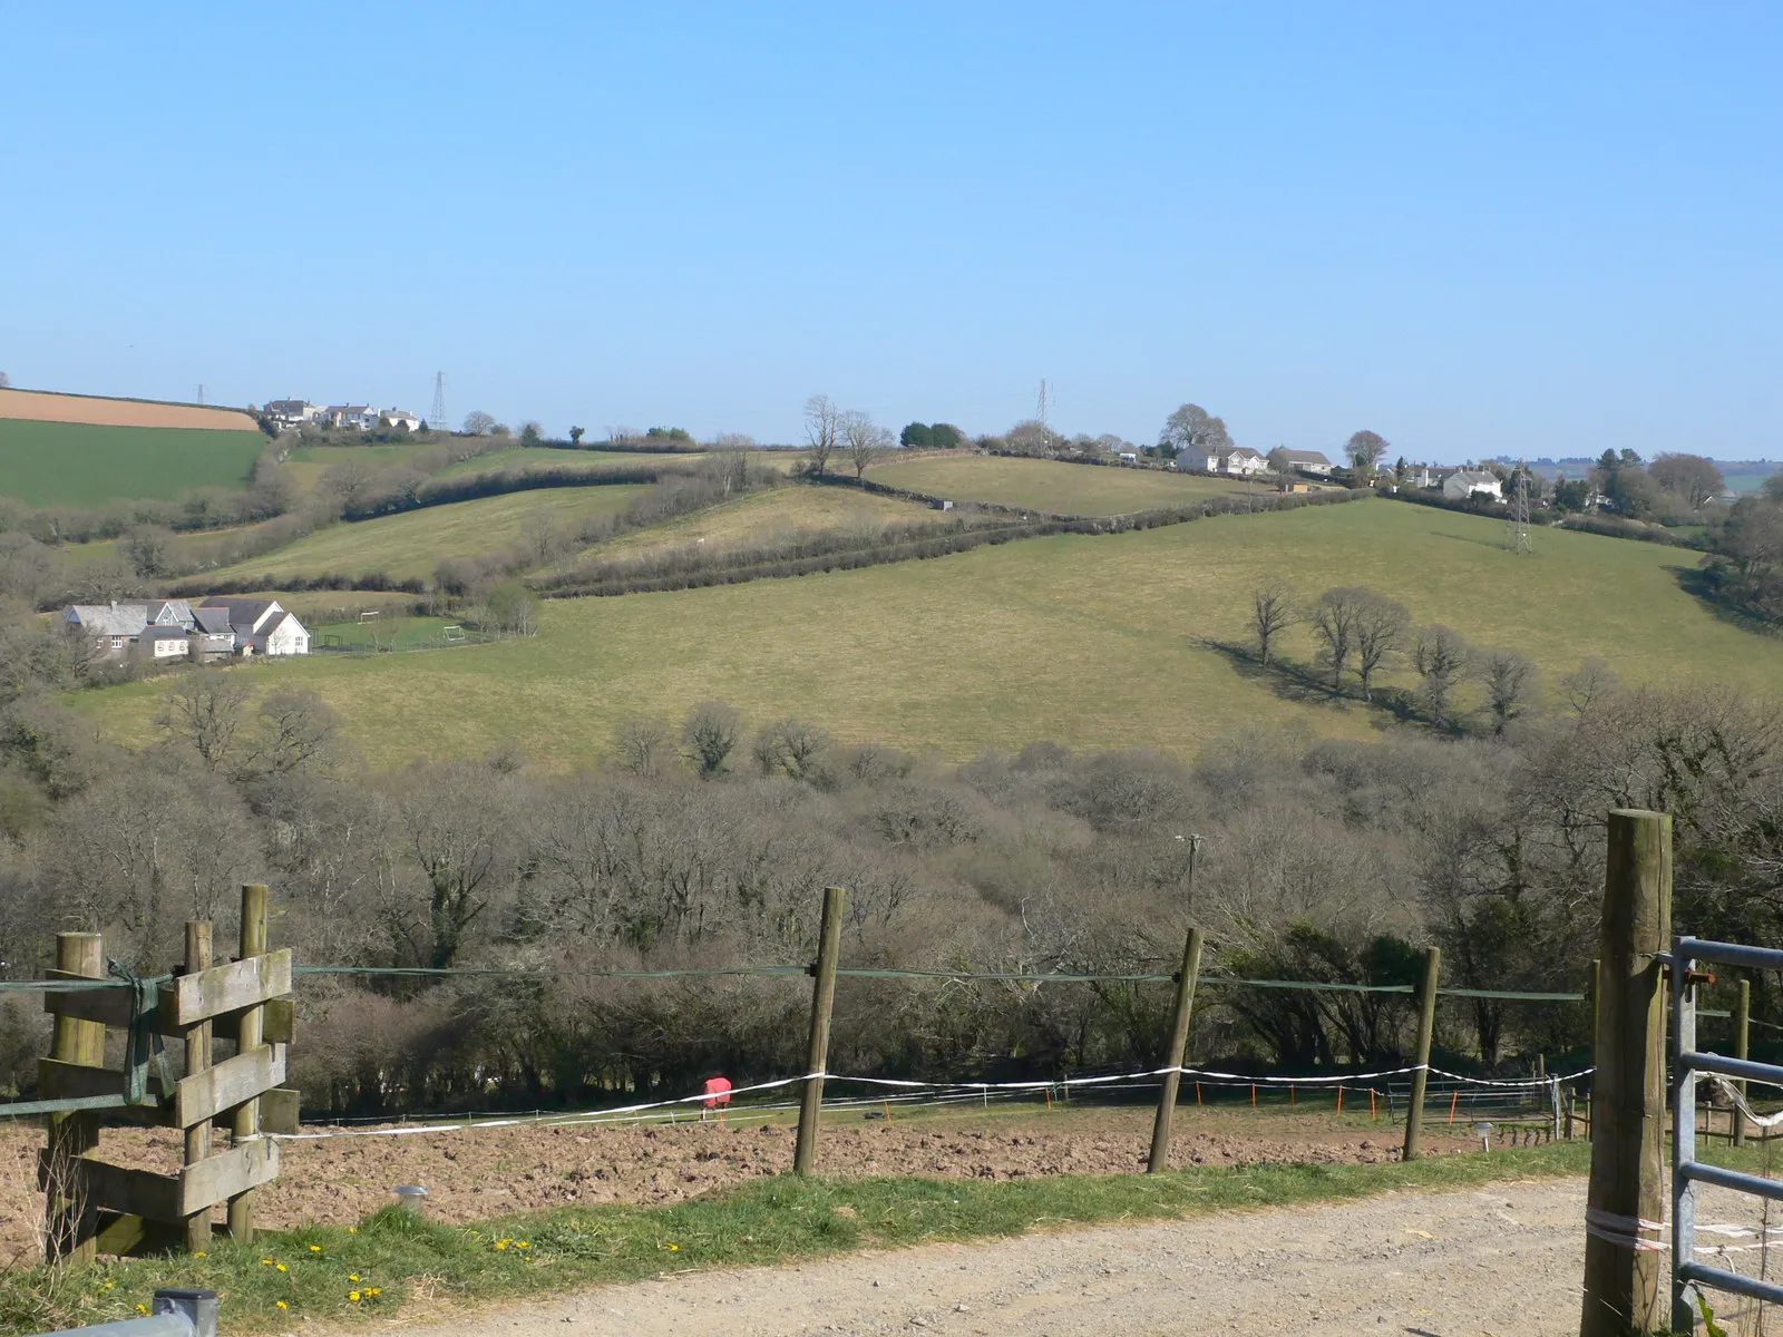
[[[1669,991],[1658,957],[1671,943],[1671,818],[1612,811],[1608,841],[1580,1337],[1664,1330],[1671,1317],[1665,1251],[1646,1225],[1665,1214]]]

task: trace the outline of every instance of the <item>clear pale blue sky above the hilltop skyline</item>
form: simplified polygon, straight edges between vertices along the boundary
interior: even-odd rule
[[[1557,12],[1560,11],[1560,12]],[[16,5],[16,385],[1783,456],[1783,5]]]

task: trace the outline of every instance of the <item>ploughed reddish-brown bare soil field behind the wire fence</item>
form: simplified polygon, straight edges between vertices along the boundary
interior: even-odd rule
[[[326,1132],[326,1128],[314,1128]],[[1471,1150],[1471,1137],[1432,1130],[1432,1152]],[[993,1111],[867,1121],[826,1118],[826,1175],[1020,1178],[1109,1175],[1145,1168],[1148,1109]],[[0,1259],[32,1248],[41,1212],[37,1150],[29,1127],[0,1130]],[[398,1184],[426,1185],[428,1214],[449,1223],[590,1203],[661,1203],[745,1178],[792,1169],[786,1121],[514,1127],[408,1136],[289,1141],[276,1184],[260,1191],[269,1226],[349,1225],[392,1202]],[[1385,1121],[1339,1123],[1319,1114],[1179,1112],[1175,1164],[1382,1162],[1398,1159],[1400,1130]],[[178,1134],[107,1128],[102,1157],[171,1171]]]

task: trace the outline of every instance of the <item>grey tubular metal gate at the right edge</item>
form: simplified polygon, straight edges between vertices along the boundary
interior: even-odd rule
[[[1713,1287],[1753,1300],[1783,1303],[1783,1285],[1742,1276],[1724,1267],[1710,1267],[1696,1260],[1696,1185],[1715,1184],[1737,1193],[1783,1202],[1783,1180],[1760,1175],[1742,1175],[1737,1169],[1705,1166],[1696,1159],[1696,1084],[1697,1077],[1712,1075],[1733,1080],[1756,1080],[1783,1086],[1783,1068],[1749,1059],[1730,1059],[1696,1046],[1696,988],[1692,972],[1697,966],[1742,966],[1747,970],[1783,972],[1783,952],[1742,943],[1712,943],[1701,938],[1678,938],[1671,961],[1672,1013],[1672,1328],[1692,1332],[1696,1314],[1690,1305],[1694,1287]],[[1744,1100],[1740,1102],[1744,1103]],[[1765,1120],[1769,1123],[1769,1120]],[[1762,1241],[1763,1243],[1763,1241]]]

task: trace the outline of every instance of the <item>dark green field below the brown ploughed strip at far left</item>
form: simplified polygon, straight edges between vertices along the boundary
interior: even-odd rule
[[[0,496],[29,506],[102,506],[242,488],[266,447],[259,431],[102,428],[0,417]]]

